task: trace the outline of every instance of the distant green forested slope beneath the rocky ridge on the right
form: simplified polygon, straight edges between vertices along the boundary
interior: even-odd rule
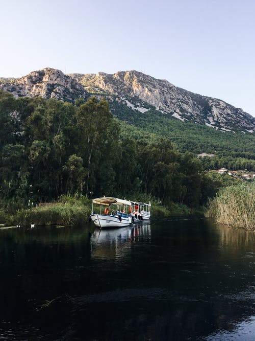
[[[242,132],[215,130],[192,122],[182,122],[157,110],[144,113],[134,111],[119,103],[111,104],[114,116],[123,121],[121,134],[134,139],[159,137],[170,139],[174,149],[215,154],[203,157],[206,170],[225,167],[233,170],[255,171],[255,135]]]

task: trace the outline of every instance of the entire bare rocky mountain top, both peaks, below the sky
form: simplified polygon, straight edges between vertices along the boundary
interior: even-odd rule
[[[150,111],[223,131],[255,131],[255,118],[242,109],[137,71],[64,75],[47,67],[17,79],[1,78],[0,88],[15,97],[55,97],[70,102],[92,95],[104,96],[112,110],[124,108],[126,116],[128,112],[137,112],[146,117],[146,112]]]

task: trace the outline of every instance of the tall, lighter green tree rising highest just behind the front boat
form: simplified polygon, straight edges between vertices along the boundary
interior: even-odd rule
[[[109,165],[116,153],[119,129],[105,99],[98,102],[96,98],[90,98],[77,109],[76,118],[80,141],[78,155],[83,158],[87,170],[86,194],[88,194],[90,191],[95,192],[98,186],[99,170],[105,167],[109,173],[111,171]]]

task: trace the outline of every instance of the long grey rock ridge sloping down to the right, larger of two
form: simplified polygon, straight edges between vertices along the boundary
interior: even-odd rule
[[[255,131],[255,118],[242,109],[137,71],[70,76],[89,92],[111,95],[110,99],[122,100],[133,110],[145,112],[146,107],[152,106],[182,121],[193,121],[226,131]]]

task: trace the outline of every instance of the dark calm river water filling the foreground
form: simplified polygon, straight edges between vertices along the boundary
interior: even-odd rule
[[[0,339],[254,340],[254,241],[187,218],[0,229]]]

